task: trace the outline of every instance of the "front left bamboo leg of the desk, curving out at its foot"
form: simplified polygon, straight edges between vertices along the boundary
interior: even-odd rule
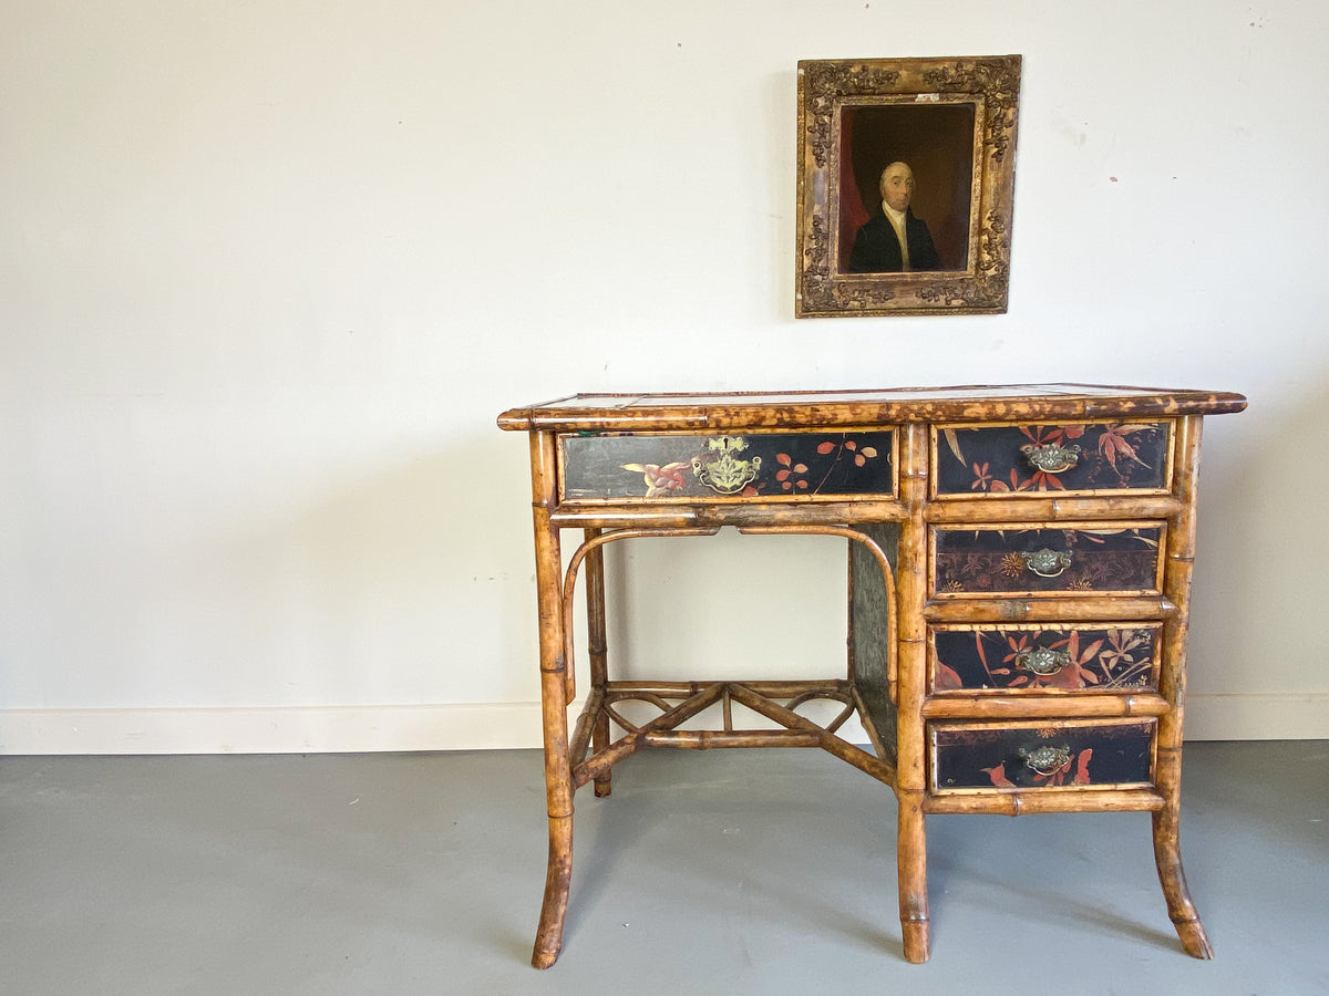
[[[549,869],[530,963],[549,968],[563,944],[563,919],[573,871],[573,785],[567,757],[567,663],[563,659],[562,558],[558,530],[549,522],[554,502],[554,440],[532,436],[536,481],[536,586],[540,603],[540,695],[545,736],[545,794]]]

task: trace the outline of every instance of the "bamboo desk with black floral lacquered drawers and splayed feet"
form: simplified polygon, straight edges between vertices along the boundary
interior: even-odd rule
[[[1059,384],[578,394],[500,416],[529,433],[534,503],[549,871],[533,964],[562,947],[573,793],[609,795],[646,746],[819,746],[889,785],[910,961],[929,954],[928,813],[1150,811],[1168,912],[1209,957],[1177,843],[1195,487],[1203,416],[1244,408]],[[610,680],[603,546],[723,526],[849,540],[844,680]],[[566,574],[565,529],[583,533]],[[582,572],[591,688],[569,733]],[[839,717],[797,712],[815,699]],[[634,725],[625,700],[661,714]],[[779,729],[735,729],[732,703]],[[678,729],[707,710],[716,729]],[[837,736],[853,714],[870,750]]]

